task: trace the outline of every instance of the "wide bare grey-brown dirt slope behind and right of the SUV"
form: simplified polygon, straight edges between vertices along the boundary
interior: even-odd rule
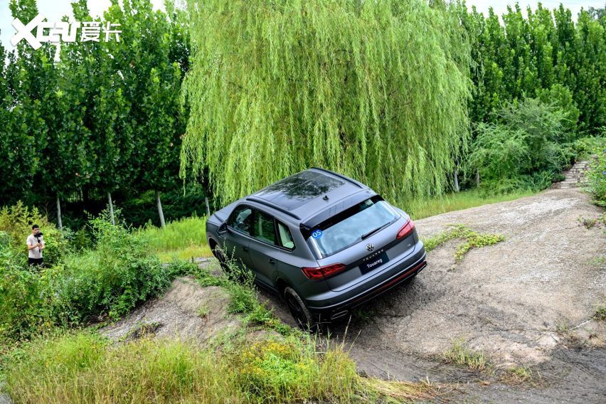
[[[436,248],[413,282],[334,326],[331,338],[351,345],[361,371],[460,382],[462,399],[472,402],[603,403],[606,326],[590,317],[606,306],[606,235],[578,222],[600,213],[569,188],[418,220],[422,238],[462,223],[506,240],[471,250],[460,262],[453,255],[460,240]],[[264,298],[292,323],[275,297]],[[486,353],[495,373],[443,363],[455,338]],[[541,386],[499,382],[511,366],[538,371]]]

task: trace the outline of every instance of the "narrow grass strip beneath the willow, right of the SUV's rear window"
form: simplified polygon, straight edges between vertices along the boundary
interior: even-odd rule
[[[488,203],[513,201],[523,196],[531,196],[533,191],[516,191],[504,195],[487,196],[477,189],[461,191],[456,193],[447,193],[443,196],[434,198],[418,198],[412,201],[404,202],[400,205],[406,213],[418,220],[430,216],[440,215],[452,211],[474,208],[476,206],[487,205]]]

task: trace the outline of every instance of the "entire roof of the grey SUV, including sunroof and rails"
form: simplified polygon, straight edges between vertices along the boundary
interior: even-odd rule
[[[347,176],[314,167],[276,181],[245,198],[281,211],[294,219],[306,218],[336,201],[369,188]]]

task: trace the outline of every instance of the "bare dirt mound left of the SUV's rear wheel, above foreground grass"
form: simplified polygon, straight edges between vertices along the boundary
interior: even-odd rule
[[[149,300],[100,332],[115,341],[153,334],[209,344],[243,326],[239,317],[227,312],[230,299],[220,287],[201,287],[191,277],[177,278],[164,296]]]

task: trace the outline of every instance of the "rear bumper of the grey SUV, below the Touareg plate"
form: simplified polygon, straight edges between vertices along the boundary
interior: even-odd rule
[[[427,266],[426,257],[425,248],[419,242],[418,248],[415,248],[413,254],[393,265],[389,270],[390,276],[381,280],[381,282],[362,290],[358,289],[358,292],[355,294],[351,294],[349,291],[331,292],[329,299],[307,300],[307,308],[310,312],[322,314],[321,317],[328,317],[330,319],[342,317],[347,314],[349,309],[353,309],[353,307],[357,307],[360,304],[368,302],[368,300],[380,296],[418,274],[418,272]]]

